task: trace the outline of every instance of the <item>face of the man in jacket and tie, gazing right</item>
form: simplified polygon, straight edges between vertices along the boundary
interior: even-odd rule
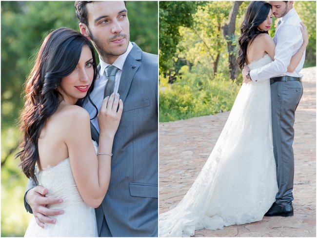
[[[123,1],[93,1],[87,3],[88,26],[85,33],[93,41],[99,56],[113,63],[127,50],[130,31],[127,9]],[[82,32],[82,27],[80,27]]]

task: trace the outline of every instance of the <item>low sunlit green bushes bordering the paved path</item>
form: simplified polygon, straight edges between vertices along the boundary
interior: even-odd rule
[[[239,90],[236,82],[221,73],[210,80],[195,67],[189,72],[186,65],[180,73],[173,84],[160,77],[159,121],[188,119],[231,109]]]

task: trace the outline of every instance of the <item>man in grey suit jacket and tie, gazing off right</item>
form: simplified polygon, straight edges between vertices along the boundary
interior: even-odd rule
[[[96,209],[101,237],[158,236],[158,57],[142,52],[130,42],[129,20],[123,1],[76,1],[80,32],[92,40],[99,53],[99,79],[91,93],[97,108],[110,93],[119,93],[123,113],[113,144],[111,179],[108,192]],[[114,66],[114,67],[113,67]],[[114,70],[109,71],[108,67]],[[109,74],[109,75],[108,75]],[[105,86],[106,84],[106,86]],[[82,106],[90,117],[95,107],[87,100]],[[99,141],[97,118],[91,120],[92,138]],[[35,211],[38,224],[53,222],[48,215],[60,210],[42,204],[60,202],[50,198],[41,203],[43,188],[30,182],[25,198],[26,209]],[[42,197],[41,197],[42,198]],[[36,202],[37,201],[37,202]]]

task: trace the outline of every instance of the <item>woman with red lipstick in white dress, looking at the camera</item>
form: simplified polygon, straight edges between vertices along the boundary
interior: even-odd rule
[[[17,157],[23,173],[48,189],[47,199],[63,199],[49,207],[65,213],[52,216],[56,224],[44,228],[36,222],[43,215],[34,214],[25,236],[98,236],[94,208],[109,186],[112,144],[123,103],[112,94],[103,100],[99,113],[96,108],[97,147],[91,139],[89,114],[77,105],[89,98],[97,75],[93,46],[79,32],[59,28],[45,38],[26,80],[23,139]]]

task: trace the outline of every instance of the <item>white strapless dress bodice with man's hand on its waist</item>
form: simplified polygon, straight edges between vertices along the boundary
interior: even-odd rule
[[[97,151],[97,143],[93,142]],[[95,208],[87,206],[80,197],[68,158],[42,170],[37,179],[48,189],[46,197],[63,198],[63,203],[48,207],[63,209],[64,214],[51,216],[57,223],[45,224],[44,228],[33,217],[24,237],[98,237]]]

